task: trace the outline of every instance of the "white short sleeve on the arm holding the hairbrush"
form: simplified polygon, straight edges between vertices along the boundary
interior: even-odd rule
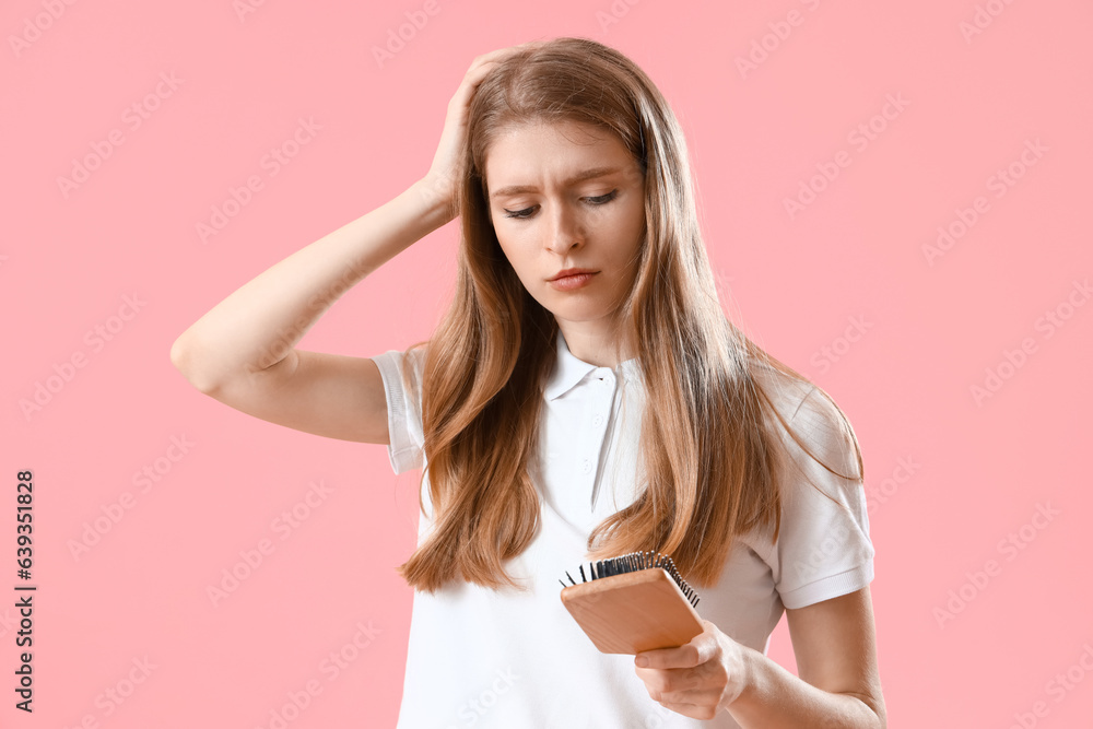
[[[859,475],[854,434],[821,390],[812,387],[808,391],[789,425],[832,470]],[[784,437],[799,469],[792,465],[784,469],[781,527],[772,567],[783,604],[796,609],[869,585],[874,550],[861,480],[832,473],[789,435]],[[831,498],[818,493],[809,481]]]

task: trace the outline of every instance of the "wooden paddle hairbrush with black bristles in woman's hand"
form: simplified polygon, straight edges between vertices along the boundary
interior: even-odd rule
[[[562,603],[597,648],[606,654],[638,654],[674,648],[703,632],[695,612],[698,596],[670,556],[632,552],[580,566],[580,583],[569,573]]]

